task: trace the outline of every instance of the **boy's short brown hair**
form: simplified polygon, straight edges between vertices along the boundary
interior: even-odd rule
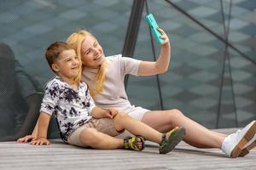
[[[73,49],[68,45],[67,42],[54,42],[49,45],[49,47],[46,49],[45,52],[45,58],[47,59],[47,62],[49,64],[49,67],[52,71],[54,71],[51,67],[52,64],[55,63],[55,60],[60,56],[60,54],[65,51]],[[54,71],[55,72],[55,71]]]

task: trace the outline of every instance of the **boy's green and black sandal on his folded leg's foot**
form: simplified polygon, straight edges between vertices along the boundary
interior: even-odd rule
[[[143,147],[139,148],[137,139],[140,139],[143,143]],[[124,139],[124,148],[126,150],[143,150],[145,148],[145,139],[142,136],[128,136]]]

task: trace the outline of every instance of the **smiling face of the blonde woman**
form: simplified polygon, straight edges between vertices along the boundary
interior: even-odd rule
[[[86,37],[82,43],[81,50],[81,59],[83,65],[90,68],[98,68],[100,65],[102,65],[105,56],[103,54],[102,46],[94,37]]]

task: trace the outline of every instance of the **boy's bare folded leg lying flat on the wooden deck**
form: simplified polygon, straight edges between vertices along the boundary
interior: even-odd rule
[[[82,144],[89,145],[95,149],[111,150],[123,148],[123,139],[113,138],[108,134],[96,131],[95,128],[86,128],[80,134]]]

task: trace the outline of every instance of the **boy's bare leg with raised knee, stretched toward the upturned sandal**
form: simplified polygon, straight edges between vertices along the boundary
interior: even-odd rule
[[[119,113],[113,118],[113,126],[117,131],[126,129],[132,134],[141,135],[145,139],[158,144],[160,144],[162,139],[162,133],[154,130],[154,128],[149,127],[143,122],[137,121],[125,113]]]

